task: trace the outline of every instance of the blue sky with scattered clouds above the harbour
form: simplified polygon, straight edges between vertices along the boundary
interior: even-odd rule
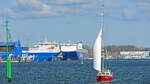
[[[101,25],[102,0],[0,0],[0,35],[5,20],[13,41],[82,41],[92,46]],[[150,1],[104,0],[104,45],[150,47]]]

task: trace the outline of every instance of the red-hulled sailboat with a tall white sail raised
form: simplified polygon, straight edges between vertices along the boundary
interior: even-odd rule
[[[100,32],[96,38],[93,46],[93,68],[97,70],[96,80],[99,82],[111,82],[113,81],[113,74],[109,69],[102,67],[102,33],[104,28],[104,6],[102,16],[102,24]]]

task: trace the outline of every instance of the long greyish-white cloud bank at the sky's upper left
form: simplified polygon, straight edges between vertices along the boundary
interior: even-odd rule
[[[49,1],[46,3],[44,1]],[[56,5],[87,2],[87,0],[18,0],[10,8],[4,8],[0,15],[7,18],[42,18],[81,12],[79,6]],[[55,4],[54,4],[55,2]]]

